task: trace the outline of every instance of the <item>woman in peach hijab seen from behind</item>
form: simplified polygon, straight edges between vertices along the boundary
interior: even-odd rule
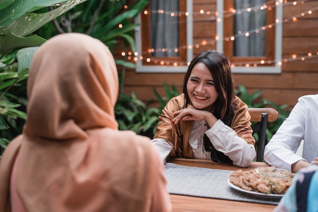
[[[150,139],[118,131],[117,77],[108,47],[87,35],[38,49],[26,124],[0,160],[0,211],[171,210]]]

